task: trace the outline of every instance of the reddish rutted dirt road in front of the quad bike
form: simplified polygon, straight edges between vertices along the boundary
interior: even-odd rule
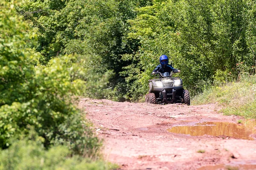
[[[205,122],[238,124],[240,117],[223,116],[217,112],[217,105],[153,105],[81,99],[79,106],[86,110],[99,137],[105,140],[105,158],[119,164],[122,170],[210,170],[225,169],[227,165],[256,169],[256,140],[218,133],[204,135],[200,128],[188,127],[181,131],[200,131],[198,135],[203,136],[172,133],[173,128],[194,128]],[[230,132],[230,127],[234,128],[221,125],[212,130],[212,127],[215,125],[207,126],[212,133]],[[247,127],[238,125],[238,130],[243,128]],[[253,137],[250,135],[250,139]]]

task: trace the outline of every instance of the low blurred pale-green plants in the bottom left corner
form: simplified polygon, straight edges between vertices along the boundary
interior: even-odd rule
[[[45,150],[40,138],[30,131],[29,137],[15,140],[0,151],[0,170],[110,170],[117,168],[104,161],[81,156],[70,157],[68,147],[58,145]]]

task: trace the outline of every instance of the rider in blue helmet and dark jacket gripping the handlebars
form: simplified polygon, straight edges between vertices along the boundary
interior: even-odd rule
[[[160,72],[160,73],[168,72],[169,74],[171,74],[171,71],[173,73],[179,73],[180,72],[180,70],[177,70],[177,69],[173,68],[172,65],[168,64],[169,59],[166,55],[161,55],[160,58],[159,58],[159,61],[160,61],[160,65],[157,65],[157,67],[153,70],[152,74],[156,74],[158,72]],[[169,103],[167,101],[166,90],[163,90],[162,94],[163,94],[163,101],[166,102],[166,103]],[[174,103],[175,95],[176,95],[176,90],[173,88],[172,89],[172,101],[170,103]]]

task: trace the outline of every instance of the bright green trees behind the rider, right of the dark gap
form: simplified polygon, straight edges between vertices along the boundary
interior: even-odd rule
[[[152,6],[139,8],[129,21],[129,37],[140,40],[141,46],[136,54],[123,57],[133,62],[122,73],[129,95],[136,99],[146,93],[148,74],[162,54],[181,70],[192,95],[209,83],[236,79],[239,73],[232,68],[237,63],[255,64],[254,6],[251,0],[155,0]],[[232,76],[227,75],[230,72]]]

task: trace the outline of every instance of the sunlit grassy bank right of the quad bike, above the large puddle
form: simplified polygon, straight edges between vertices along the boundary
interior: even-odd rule
[[[256,76],[241,75],[237,82],[210,87],[192,99],[192,105],[216,102],[226,115],[256,119]]]

